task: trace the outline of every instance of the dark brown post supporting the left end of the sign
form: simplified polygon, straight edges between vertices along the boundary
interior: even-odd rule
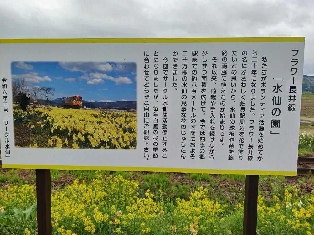
[[[36,169],[37,224],[39,235],[51,235],[50,170]]]

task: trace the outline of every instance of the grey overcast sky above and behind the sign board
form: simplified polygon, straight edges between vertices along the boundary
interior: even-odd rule
[[[314,76],[314,1],[1,0],[0,38],[269,37],[305,39]]]

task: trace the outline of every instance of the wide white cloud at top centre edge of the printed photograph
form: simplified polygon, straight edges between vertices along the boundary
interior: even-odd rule
[[[110,72],[114,70],[114,65],[107,62],[59,62],[59,65],[71,72],[88,72],[92,70],[100,72]]]

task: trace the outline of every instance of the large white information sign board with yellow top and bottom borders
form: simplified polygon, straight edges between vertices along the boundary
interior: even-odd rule
[[[296,175],[304,40],[2,39],[2,166]]]

